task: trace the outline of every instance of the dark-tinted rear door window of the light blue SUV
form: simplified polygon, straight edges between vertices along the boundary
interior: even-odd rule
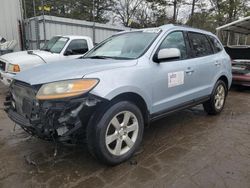
[[[213,54],[213,49],[207,37],[200,33],[188,33],[188,37],[193,48],[194,57],[202,57]]]

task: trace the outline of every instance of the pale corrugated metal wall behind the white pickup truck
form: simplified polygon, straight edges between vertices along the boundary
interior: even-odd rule
[[[127,27],[101,24],[56,16],[37,16],[24,21],[27,49],[39,49],[55,35],[82,35],[92,38],[95,44],[117,32],[131,30]]]

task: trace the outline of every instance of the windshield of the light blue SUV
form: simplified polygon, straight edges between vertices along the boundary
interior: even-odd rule
[[[84,58],[136,59],[154,41],[158,32],[136,31],[110,37]]]

